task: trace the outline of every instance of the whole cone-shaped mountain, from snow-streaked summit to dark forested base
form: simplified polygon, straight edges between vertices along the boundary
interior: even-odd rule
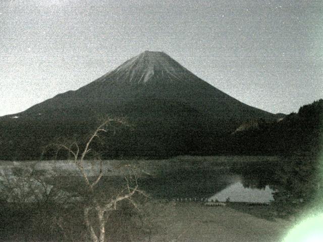
[[[12,142],[9,148],[20,159],[37,158],[40,144],[55,137],[85,135],[104,115],[126,116],[135,127],[131,135],[123,131],[110,139],[109,153],[116,156],[227,149],[214,144],[242,122],[276,119],[275,114],[248,106],[209,85],[164,52],[145,51],[76,91],[1,117],[0,139]],[[27,152],[13,147],[25,147]],[[6,151],[3,154],[10,157]]]

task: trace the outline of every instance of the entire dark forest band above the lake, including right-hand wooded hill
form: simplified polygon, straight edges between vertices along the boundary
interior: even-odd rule
[[[251,120],[247,129],[234,131],[242,121],[200,116],[194,109],[178,111],[176,104],[164,110],[134,110],[129,126],[113,127],[97,142],[102,158],[164,158],[176,155],[287,155],[318,153],[321,148],[323,100],[304,105],[298,113],[282,120]],[[153,105],[151,106],[153,108]],[[167,111],[165,111],[167,110]],[[73,110],[72,110],[73,111]],[[43,114],[41,118],[2,118],[0,120],[0,159],[52,159],[44,147],[53,142],[82,141],[100,122],[80,117],[77,110],[69,119]],[[89,112],[90,113],[90,112]],[[167,120],[166,120],[167,119]],[[67,158],[64,156],[57,158]]]

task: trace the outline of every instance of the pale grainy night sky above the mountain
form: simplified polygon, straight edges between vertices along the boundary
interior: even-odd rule
[[[323,98],[323,1],[0,0],[0,115],[164,51],[249,105]]]

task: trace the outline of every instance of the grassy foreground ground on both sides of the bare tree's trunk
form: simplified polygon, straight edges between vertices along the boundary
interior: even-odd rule
[[[9,217],[2,214],[1,241],[88,241],[81,207],[9,211],[2,211]],[[58,221],[57,215],[63,218],[63,230],[52,223]],[[137,215],[115,211],[106,232],[107,241],[114,242],[280,242],[292,226],[293,222],[272,216],[268,206],[207,207],[149,200]]]

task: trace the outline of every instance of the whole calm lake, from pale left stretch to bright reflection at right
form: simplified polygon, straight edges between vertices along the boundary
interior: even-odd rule
[[[127,161],[105,162],[103,169],[114,170],[118,164]],[[184,157],[163,161],[129,161],[137,167],[149,170],[152,175],[140,175],[140,188],[154,198],[189,199],[201,201],[267,203],[273,201],[275,169],[279,161],[273,157]],[[60,176],[62,187],[78,184],[79,178],[73,163],[68,161],[35,162],[0,162],[0,170],[11,170],[12,167],[33,165],[36,169],[62,171],[73,174]],[[88,162],[90,174],[95,174],[98,167]],[[124,171],[115,169],[101,179],[102,189],[122,182]],[[118,178],[119,177],[119,178]],[[75,186],[75,185],[74,185]],[[73,186],[70,190],[74,189]]]

